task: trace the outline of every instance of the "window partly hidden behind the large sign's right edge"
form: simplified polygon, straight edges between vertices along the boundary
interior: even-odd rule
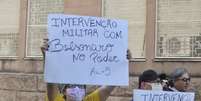
[[[104,0],[103,16],[128,21],[128,43],[132,56],[144,58],[146,0]]]

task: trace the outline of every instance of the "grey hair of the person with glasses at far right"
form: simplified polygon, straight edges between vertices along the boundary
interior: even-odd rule
[[[185,68],[176,68],[171,73],[171,79],[173,81],[177,80],[179,77],[181,77],[183,74],[188,73],[188,71]]]

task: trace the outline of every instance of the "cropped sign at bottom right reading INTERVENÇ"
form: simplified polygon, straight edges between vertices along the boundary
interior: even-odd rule
[[[194,101],[194,93],[134,90],[133,101]]]

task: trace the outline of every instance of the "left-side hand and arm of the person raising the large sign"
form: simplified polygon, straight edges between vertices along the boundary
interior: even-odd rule
[[[43,55],[43,67],[45,64],[45,51],[48,50],[48,39],[44,39],[43,45],[41,46],[41,52]],[[54,101],[58,92],[58,87],[56,84],[47,83],[47,97],[48,101]]]

